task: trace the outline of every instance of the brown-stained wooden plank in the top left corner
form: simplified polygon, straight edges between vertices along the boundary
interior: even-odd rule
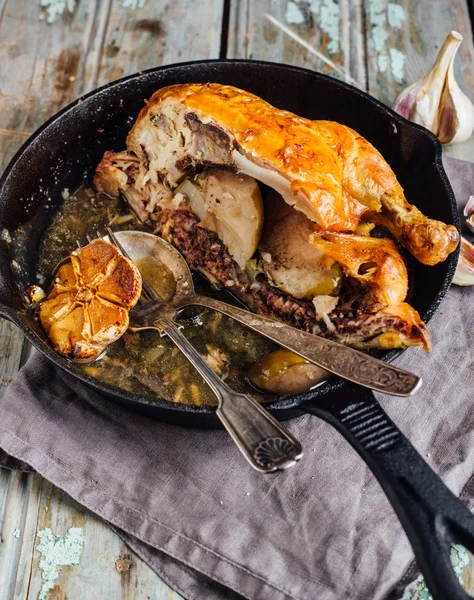
[[[47,23],[39,2],[8,1],[0,25],[0,128],[32,132],[84,90],[99,0],[78,2],[73,14]]]

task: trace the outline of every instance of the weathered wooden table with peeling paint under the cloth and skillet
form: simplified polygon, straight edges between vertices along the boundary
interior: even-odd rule
[[[473,13],[472,0],[0,0],[0,171],[76,97],[174,62],[262,59],[344,78],[321,53],[391,104],[428,71],[456,29],[465,38],[458,81],[474,98]],[[471,139],[445,151],[470,160],[473,148]],[[18,331],[0,320],[0,390],[28,352]],[[59,553],[65,566],[55,579],[51,547],[68,532],[76,545]],[[458,559],[461,571],[466,557]],[[180,598],[61,490],[38,475],[0,469],[0,600],[38,597]],[[418,584],[405,598],[429,595]]]

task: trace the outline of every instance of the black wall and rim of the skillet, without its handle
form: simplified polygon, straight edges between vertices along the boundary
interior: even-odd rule
[[[427,130],[409,123],[365,93],[306,69],[250,61],[204,61],[162,67],[109,84],[53,117],[14,157],[0,180],[0,308],[60,367],[127,406],[160,419],[214,426],[213,409],[175,405],[133,395],[95,380],[49,349],[25,308],[23,290],[35,282],[37,248],[60,204],[64,188],[90,178],[106,150],[121,150],[144,100],[160,87],[184,82],[219,82],[257,94],[271,104],[310,119],[353,127],[383,154],[408,200],[430,217],[459,228],[454,196],[441,165],[441,146]],[[8,231],[8,234],[6,233]],[[6,243],[11,236],[14,243]],[[414,263],[411,303],[429,320],[444,296],[457,256],[435,267]],[[12,262],[15,265],[12,268]],[[391,359],[396,352],[385,353]],[[327,383],[309,395],[281,399],[270,407],[281,418],[297,414],[302,401],[340,387]],[[189,417],[187,418],[186,417]]]

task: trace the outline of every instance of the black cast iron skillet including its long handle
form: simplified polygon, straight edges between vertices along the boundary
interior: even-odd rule
[[[39,241],[61,202],[63,188],[78,187],[93,173],[105,150],[124,148],[126,134],[144,99],[156,89],[194,81],[235,85],[298,115],[333,119],[353,127],[381,151],[409,201],[430,217],[458,228],[459,220],[441,164],[441,146],[433,135],[352,86],[305,69],[229,60],[161,67],[96,90],[50,119],[23,145],[0,180],[0,314],[13,321],[56,365],[114,401],[177,425],[213,428],[218,421],[210,407],[173,404],[159,398],[151,401],[89,377],[61,358],[47,345],[24,299],[24,290],[35,283]],[[425,321],[444,297],[456,262],[457,254],[436,267],[415,261],[411,303]],[[396,355],[382,354],[384,360]],[[460,542],[474,550],[474,517],[423,461],[370,392],[334,379],[310,393],[275,400],[268,408],[280,419],[311,413],[338,429],[385,490],[433,597],[469,598],[451,567],[449,546]]]

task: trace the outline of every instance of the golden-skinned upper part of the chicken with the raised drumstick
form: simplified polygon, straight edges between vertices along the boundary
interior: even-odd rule
[[[382,155],[350,127],[310,121],[216,83],[158,90],[127,138],[149,178],[175,184],[197,166],[237,168],[278,191],[324,231],[353,231],[381,213],[401,244],[429,265],[459,242],[455,227],[411,206]]]

